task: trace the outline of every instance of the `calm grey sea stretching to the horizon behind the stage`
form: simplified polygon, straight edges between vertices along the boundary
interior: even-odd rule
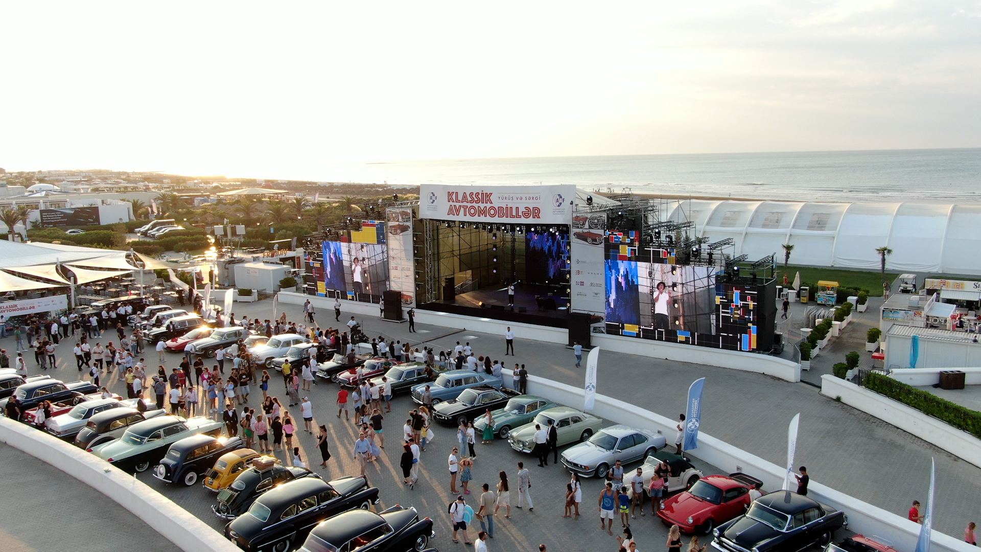
[[[574,184],[589,191],[808,201],[981,203],[981,148],[597,155],[325,166],[309,180]]]

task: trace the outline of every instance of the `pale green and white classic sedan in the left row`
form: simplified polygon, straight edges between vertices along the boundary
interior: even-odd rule
[[[204,416],[158,415],[130,425],[119,439],[92,448],[92,454],[119,469],[146,471],[172,443],[198,433],[218,437],[224,426]]]

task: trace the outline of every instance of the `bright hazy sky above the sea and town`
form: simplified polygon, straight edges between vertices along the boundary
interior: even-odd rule
[[[6,2],[0,167],[976,147],[981,0]]]

